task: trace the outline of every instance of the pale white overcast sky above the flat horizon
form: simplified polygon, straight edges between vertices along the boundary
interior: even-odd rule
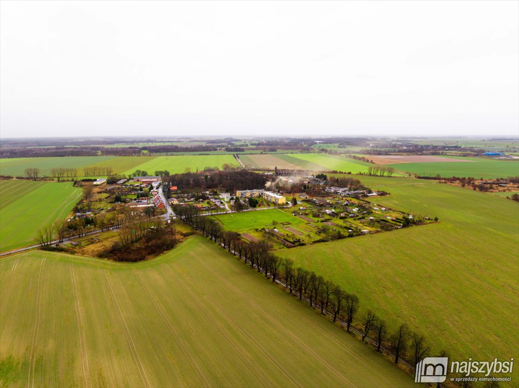
[[[519,133],[519,2],[0,2],[0,134]]]

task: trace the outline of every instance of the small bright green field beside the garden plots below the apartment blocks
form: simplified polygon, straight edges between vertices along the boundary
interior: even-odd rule
[[[245,211],[234,214],[218,214],[213,216],[220,221],[224,228],[229,231],[244,232],[249,229],[264,228],[272,226],[272,221],[278,224],[290,222],[292,225],[304,224],[305,222],[292,214],[279,209]]]

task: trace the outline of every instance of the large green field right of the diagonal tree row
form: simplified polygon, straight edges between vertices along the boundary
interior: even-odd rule
[[[414,178],[359,179],[391,193],[377,204],[440,223],[278,254],[357,293],[360,315],[371,308],[393,327],[407,322],[434,351],[481,360],[518,356],[518,204]]]

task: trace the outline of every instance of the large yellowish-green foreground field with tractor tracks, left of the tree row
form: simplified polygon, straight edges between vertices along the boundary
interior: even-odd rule
[[[412,376],[224,250],[121,264],[0,259],[0,385],[412,386]]]

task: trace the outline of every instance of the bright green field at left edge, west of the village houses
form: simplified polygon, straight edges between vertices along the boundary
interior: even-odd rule
[[[70,182],[0,180],[0,251],[35,243],[36,231],[65,218],[80,196]]]

